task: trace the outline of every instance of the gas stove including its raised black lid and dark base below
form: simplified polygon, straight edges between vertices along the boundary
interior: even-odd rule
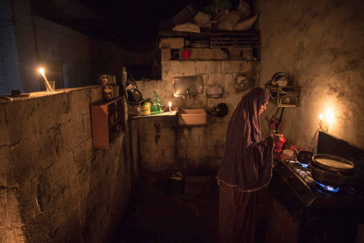
[[[267,188],[273,196],[268,225],[274,230],[270,237],[279,239],[273,242],[357,242],[358,225],[364,224],[364,150],[319,132],[317,154],[332,154],[351,161],[357,177],[342,188],[320,185],[313,180],[309,165],[275,156]],[[290,222],[290,230],[276,226],[276,222]]]

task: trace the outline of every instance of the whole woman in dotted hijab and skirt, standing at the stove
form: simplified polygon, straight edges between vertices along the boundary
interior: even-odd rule
[[[271,98],[260,87],[249,91],[227,127],[217,173],[220,243],[254,242],[257,191],[270,181],[274,142],[283,137],[275,134],[262,141],[259,115]]]

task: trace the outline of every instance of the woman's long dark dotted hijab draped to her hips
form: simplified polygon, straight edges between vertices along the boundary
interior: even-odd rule
[[[258,111],[271,98],[267,91],[257,87],[241,99],[227,127],[218,181],[246,192],[256,191],[269,183],[274,143],[271,137],[261,141]]]

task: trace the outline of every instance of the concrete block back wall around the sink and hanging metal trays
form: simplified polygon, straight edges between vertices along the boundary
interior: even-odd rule
[[[137,81],[138,90],[144,99],[153,100],[155,90],[164,106],[168,106],[168,102],[171,102],[172,106],[180,109],[205,109],[223,102],[229,107],[229,113],[223,118],[208,115],[206,128],[187,128],[185,136],[182,134],[183,129],[178,127],[177,116],[132,119],[133,124],[135,123],[133,127],[139,127],[138,134],[143,143],[144,149],[140,150],[143,169],[171,172],[178,170],[185,175],[217,172],[223,154],[227,124],[240,99],[253,86],[258,86],[260,63],[245,60],[165,60],[161,65],[162,80]],[[204,86],[202,94],[186,98],[174,97],[173,77],[196,74],[202,75]],[[239,74],[246,74],[255,84],[244,92],[236,93],[233,81]],[[206,98],[206,89],[212,83],[218,83],[223,87],[222,98]],[[161,127],[159,133],[155,130],[156,122]],[[155,143],[157,134],[161,136],[158,145]]]

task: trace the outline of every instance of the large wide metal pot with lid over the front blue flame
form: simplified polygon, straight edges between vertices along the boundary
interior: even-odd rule
[[[325,186],[343,187],[356,177],[352,162],[330,154],[312,156],[309,166],[313,180]]]

